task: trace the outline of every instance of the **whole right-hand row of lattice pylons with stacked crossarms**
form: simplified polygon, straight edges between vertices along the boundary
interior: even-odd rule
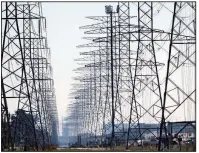
[[[131,14],[131,4],[137,13]],[[85,144],[129,149],[149,132],[159,139],[161,150],[167,146],[162,147],[166,122],[176,118],[180,106],[187,109],[192,103],[195,108],[195,3],[173,4],[170,31],[154,28],[155,16],[166,8],[156,2],[119,2],[116,12],[87,17],[96,23],[80,27],[89,43],[77,46],[88,51],[75,60],[81,66],[75,70],[68,124],[79,126],[73,131]],[[167,63],[159,52],[167,53]],[[75,121],[77,110],[80,120]]]

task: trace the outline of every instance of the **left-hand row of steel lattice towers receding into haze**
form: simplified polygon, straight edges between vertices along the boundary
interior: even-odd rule
[[[58,117],[45,26],[40,3],[2,3],[4,148],[44,150],[56,139]]]

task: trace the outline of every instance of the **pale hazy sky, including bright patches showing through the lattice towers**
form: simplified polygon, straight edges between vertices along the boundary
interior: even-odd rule
[[[166,4],[164,3],[167,8],[162,7],[160,3],[158,3],[158,5],[156,5],[157,3],[153,4],[154,29],[161,29],[169,32],[171,30],[172,23],[171,12],[173,11],[173,2]],[[46,17],[47,23],[46,30],[48,46],[51,49],[51,64],[53,67],[54,87],[56,92],[56,102],[59,119],[61,119],[62,116],[67,115],[66,109],[67,104],[70,101],[68,99],[68,96],[71,89],[70,84],[73,83],[73,70],[78,67],[74,59],[79,57],[80,51],[88,51],[86,48],[81,50],[76,48],[76,46],[78,45],[88,43],[87,41],[82,39],[82,37],[85,37],[86,35],[84,35],[84,31],[80,30],[79,27],[95,24],[95,21],[86,19],[85,17],[104,16],[105,5],[112,5],[115,9],[117,2],[42,2],[43,16]],[[135,5],[135,3],[131,3],[131,5]],[[137,13],[137,6],[134,7],[135,8],[130,7],[131,11]],[[158,11],[160,11],[160,13],[157,13]],[[136,13],[131,12],[132,15]],[[186,12],[185,15],[182,15],[186,17]],[[133,22],[133,24],[137,23]],[[157,62],[167,63],[169,48],[168,45],[169,43],[167,42],[163,47],[166,48],[166,51],[159,52],[158,46],[157,44],[155,44],[156,57],[158,60]],[[165,72],[166,70],[164,71],[164,73]],[[176,78],[175,82],[183,82],[183,80],[181,79],[181,76],[183,75],[184,73],[182,71],[182,73],[179,74],[179,78]],[[164,77],[165,74],[161,75],[161,82]],[[185,80],[185,84],[189,84],[190,80]],[[144,100],[144,104],[148,102],[148,97],[145,96],[145,98],[146,100]],[[17,106],[17,103],[13,103],[13,101],[10,101],[9,108],[14,108],[14,105]],[[186,112],[192,112],[192,114],[194,115],[192,111],[193,106],[194,105],[188,103],[184,105],[183,108],[187,109]],[[176,119],[182,120],[182,111],[182,108],[176,111]]]

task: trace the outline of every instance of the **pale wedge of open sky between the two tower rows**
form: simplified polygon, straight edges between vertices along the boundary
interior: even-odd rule
[[[56,100],[59,117],[66,115],[66,105],[72,82],[72,70],[77,68],[74,59],[85,43],[80,26],[93,24],[86,16],[105,15],[104,2],[43,2],[43,15],[47,22],[48,45],[51,48],[51,61],[55,80]]]

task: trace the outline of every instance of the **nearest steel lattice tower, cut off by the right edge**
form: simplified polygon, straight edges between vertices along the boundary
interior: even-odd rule
[[[162,129],[167,120],[172,119],[175,113],[182,111],[182,106],[191,107],[193,115],[188,121],[195,122],[196,107],[196,3],[175,2],[167,73],[162,106]],[[183,73],[183,75],[180,75]],[[179,78],[180,76],[180,78]],[[180,82],[179,80],[182,80]],[[186,115],[186,114],[184,114]],[[186,118],[184,119],[186,123]],[[161,144],[159,144],[161,150]]]

